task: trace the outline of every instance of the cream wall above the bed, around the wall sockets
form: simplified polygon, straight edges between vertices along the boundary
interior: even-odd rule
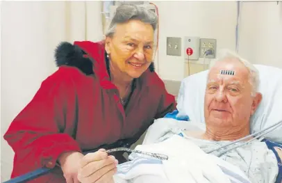
[[[182,56],[166,55],[167,37],[215,38],[217,51],[235,50],[235,1],[152,2],[158,6],[160,15],[158,74],[163,79],[180,81],[187,72],[184,49]],[[282,67],[281,4],[277,5],[276,1],[242,3],[239,54],[251,63]],[[199,61],[202,62],[202,58]]]

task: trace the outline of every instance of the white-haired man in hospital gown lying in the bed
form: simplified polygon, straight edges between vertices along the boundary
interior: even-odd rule
[[[236,54],[226,54],[218,59],[208,74],[204,103],[206,129],[195,130],[195,128],[188,129],[187,127],[183,129],[177,125],[164,127],[164,119],[159,119],[149,128],[144,143],[157,145],[175,135],[180,135],[196,144],[202,151],[240,168],[250,182],[281,183],[281,146],[269,141],[265,143],[261,138],[247,143],[254,138],[252,136],[243,139],[242,142],[231,144],[232,141],[249,136],[250,117],[262,100],[262,95],[256,92],[258,81],[258,71],[251,63]],[[167,152],[173,146],[173,143],[171,147],[167,144],[165,147]],[[106,154],[103,151],[97,153],[101,154],[101,157]],[[192,164],[193,157],[190,159]],[[83,160],[82,164],[89,162],[92,162],[92,166],[81,167],[80,176],[85,175],[85,172],[90,175],[91,170],[92,178],[81,176],[81,182],[94,182],[102,176],[97,170],[99,164],[91,160],[91,154]],[[140,171],[143,170],[144,167],[140,169]],[[153,168],[151,171],[154,171]]]

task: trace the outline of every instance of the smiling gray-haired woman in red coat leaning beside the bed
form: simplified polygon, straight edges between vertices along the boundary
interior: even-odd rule
[[[34,182],[78,182],[82,152],[128,147],[154,118],[175,109],[174,96],[154,72],[157,23],[154,13],[123,5],[103,42],[58,46],[58,71],[42,82],[4,135],[15,151],[11,177],[58,164],[61,170]],[[121,154],[107,159],[110,172],[117,160],[124,161]]]

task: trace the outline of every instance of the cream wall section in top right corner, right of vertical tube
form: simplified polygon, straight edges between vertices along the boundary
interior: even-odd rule
[[[242,3],[239,53],[251,63],[282,68],[282,1]]]

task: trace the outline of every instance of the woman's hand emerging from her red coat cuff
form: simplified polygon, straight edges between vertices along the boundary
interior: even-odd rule
[[[77,174],[82,158],[83,154],[81,152],[65,152],[60,155],[58,161],[67,183],[79,183]]]

